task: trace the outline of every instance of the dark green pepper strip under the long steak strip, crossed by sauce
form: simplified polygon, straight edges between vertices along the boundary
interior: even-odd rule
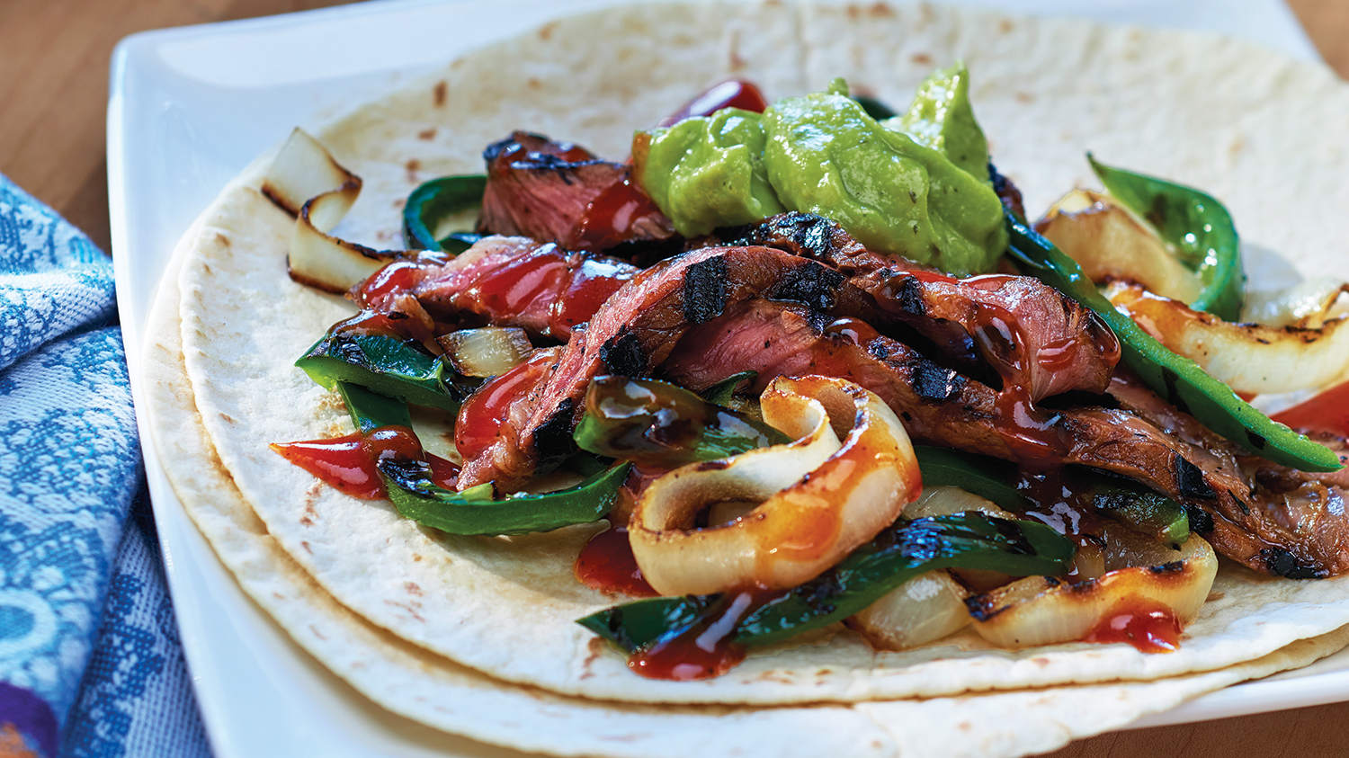
[[[1002,510],[1024,513],[1035,507],[1016,486],[1016,464],[946,448],[913,445],[924,487],[959,487]],[[1118,521],[1129,529],[1167,545],[1179,545],[1190,535],[1190,517],[1171,498],[1122,476],[1072,467],[1067,487],[1083,504]]]

